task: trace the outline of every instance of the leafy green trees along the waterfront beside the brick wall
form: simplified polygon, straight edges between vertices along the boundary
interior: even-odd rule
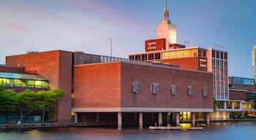
[[[23,117],[31,112],[42,112],[44,123],[45,112],[54,109],[56,101],[63,96],[64,91],[54,90],[24,90],[16,93],[15,90],[4,90],[0,87],[0,112],[20,112],[20,123]]]

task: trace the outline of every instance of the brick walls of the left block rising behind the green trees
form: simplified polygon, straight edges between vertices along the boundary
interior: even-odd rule
[[[27,70],[34,71],[36,69],[38,74],[50,81],[51,89],[64,90],[64,97],[58,103],[56,119],[59,121],[71,120],[72,52],[56,50],[12,55],[7,56],[6,63],[7,65],[25,66]]]

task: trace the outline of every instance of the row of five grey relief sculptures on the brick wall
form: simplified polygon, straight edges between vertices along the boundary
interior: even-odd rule
[[[135,81],[133,82],[132,84],[132,93],[136,93],[138,94],[139,91],[140,91],[140,82],[138,81]],[[157,94],[159,92],[159,85],[158,83],[153,83],[151,85],[151,93],[153,94]],[[193,95],[193,88],[191,85],[189,85],[187,87],[187,93],[188,93],[188,96],[191,97]],[[203,97],[207,97],[208,96],[208,88],[207,87],[204,87],[203,90],[202,90],[202,96]],[[176,96],[176,85],[170,85],[170,94],[173,95],[173,96]]]

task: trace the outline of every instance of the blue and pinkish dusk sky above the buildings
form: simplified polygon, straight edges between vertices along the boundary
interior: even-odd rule
[[[27,50],[128,58],[162,23],[165,0],[0,0],[0,63]],[[253,77],[256,0],[168,0],[179,44],[229,52],[229,74]]]

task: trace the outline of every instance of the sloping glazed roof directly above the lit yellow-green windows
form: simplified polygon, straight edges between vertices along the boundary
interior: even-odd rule
[[[24,74],[24,73],[2,72],[2,71],[0,71],[0,78],[34,79],[34,80],[48,81],[48,79],[45,79],[45,77],[42,77],[39,74]]]

